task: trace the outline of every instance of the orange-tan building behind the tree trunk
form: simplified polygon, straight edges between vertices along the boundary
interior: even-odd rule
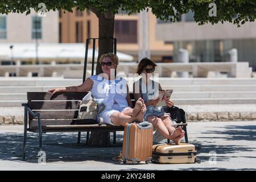
[[[164,44],[163,40],[156,40],[155,27],[156,17],[150,12],[150,32],[148,43],[150,44],[151,59],[154,61],[172,60],[172,44]],[[139,14],[128,15],[119,11],[115,15],[114,37],[117,38],[117,50],[134,56],[138,60],[139,50]],[[87,38],[98,37],[98,18],[91,11],[79,11],[73,9],[73,13],[59,13],[59,42],[60,43],[82,43]],[[90,44],[92,47],[92,44]]]

